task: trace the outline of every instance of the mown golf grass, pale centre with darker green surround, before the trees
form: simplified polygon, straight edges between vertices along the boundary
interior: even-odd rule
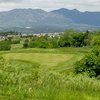
[[[83,49],[83,51],[85,51]],[[25,60],[40,64],[44,71],[66,71],[73,68],[76,61],[82,59],[84,53],[75,48],[62,49],[17,49],[3,53],[6,60]]]

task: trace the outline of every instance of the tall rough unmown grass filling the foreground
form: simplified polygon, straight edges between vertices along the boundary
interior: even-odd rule
[[[0,59],[0,100],[100,100],[100,81],[87,75],[43,74],[39,64]]]

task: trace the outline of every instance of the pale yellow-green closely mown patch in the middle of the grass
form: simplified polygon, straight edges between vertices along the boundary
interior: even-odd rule
[[[41,68],[52,69],[60,63],[71,60],[74,54],[52,54],[52,53],[9,53],[3,55],[7,60],[25,60],[40,64]]]

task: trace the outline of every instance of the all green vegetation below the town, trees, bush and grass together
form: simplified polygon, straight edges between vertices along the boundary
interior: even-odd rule
[[[11,48],[0,51],[0,99],[99,100],[99,36],[68,30],[0,41]]]

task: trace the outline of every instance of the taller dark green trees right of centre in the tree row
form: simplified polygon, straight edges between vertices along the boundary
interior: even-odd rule
[[[65,31],[60,37],[59,45],[60,47],[83,47],[87,46],[88,42],[89,33]]]

